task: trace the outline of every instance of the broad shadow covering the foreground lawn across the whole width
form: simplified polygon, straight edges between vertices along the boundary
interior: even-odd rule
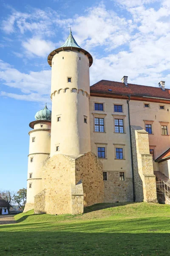
[[[169,218],[10,225],[1,255],[168,256]]]

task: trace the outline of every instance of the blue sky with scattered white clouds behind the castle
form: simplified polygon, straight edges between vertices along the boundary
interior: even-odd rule
[[[0,189],[26,188],[29,123],[51,109],[47,57],[70,26],[94,58],[91,85],[170,88],[170,0],[0,0]]]

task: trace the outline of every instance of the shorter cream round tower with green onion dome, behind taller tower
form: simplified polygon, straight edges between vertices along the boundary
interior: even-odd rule
[[[36,121],[29,124],[27,203],[24,211],[34,208],[34,196],[42,191],[42,164],[50,154],[51,111],[47,106],[35,115]]]

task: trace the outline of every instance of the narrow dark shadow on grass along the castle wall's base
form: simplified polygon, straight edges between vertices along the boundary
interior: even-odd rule
[[[84,213],[88,212],[94,212],[98,211],[101,209],[106,209],[106,208],[111,208],[111,207],[118,207],[118,206],[123,206],[127,204],[136,204],[135,202],[124,202],[124,203],[104,203],[104,204],[94,204],[88,207],[84,208]]]

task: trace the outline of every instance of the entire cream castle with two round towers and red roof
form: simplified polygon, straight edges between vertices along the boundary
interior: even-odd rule
[[[29,124],[25,211],[78,214],[98,203],[157,202],[168,190],[170,90],[127,76],[90,87],[92,63],[71,32],[48,55],[52,111],[45,105]]]

